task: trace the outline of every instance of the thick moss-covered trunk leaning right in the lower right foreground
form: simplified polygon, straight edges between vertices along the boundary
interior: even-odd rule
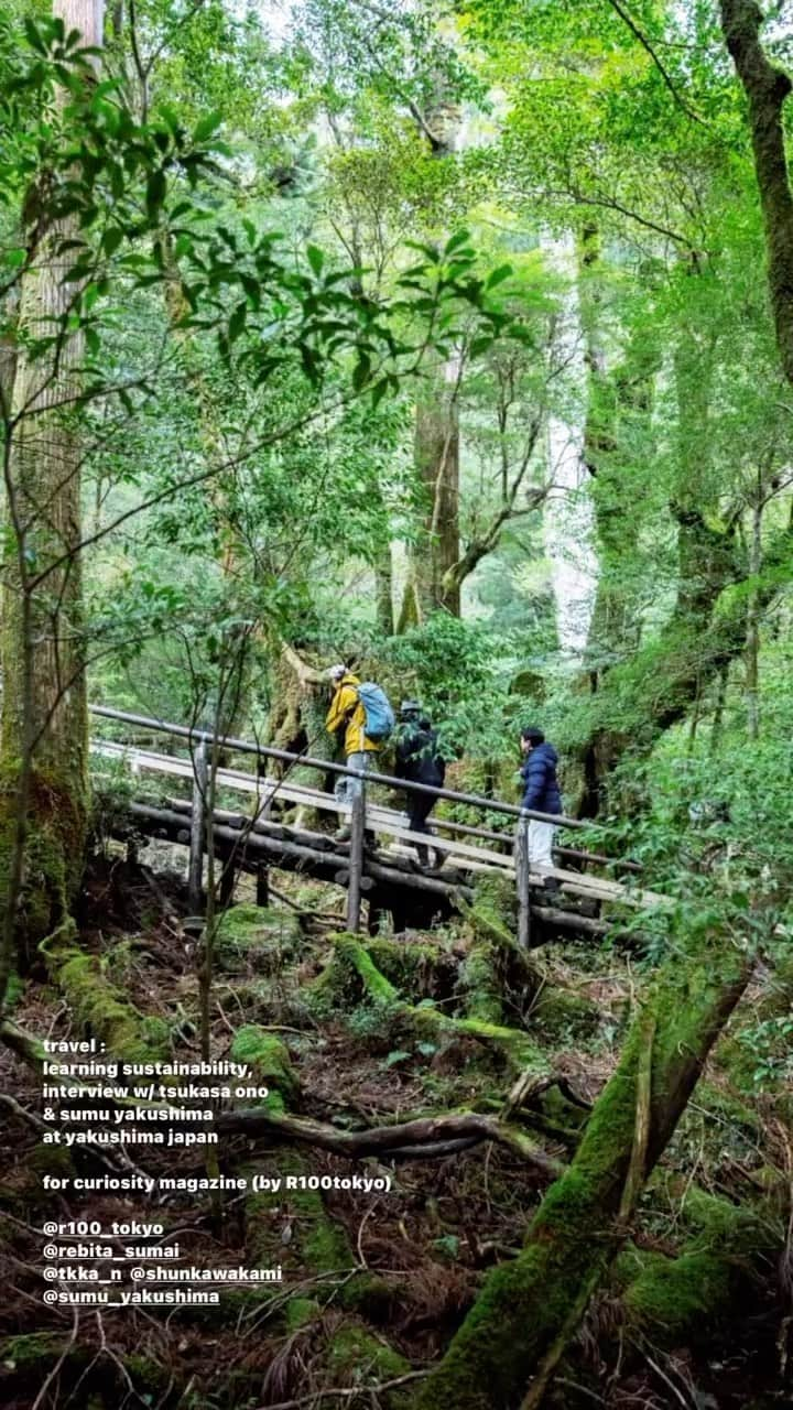
[[[522,1252],[490,1275],[415,1410],[540,1403],[749,979],[751,962],[728,936],[698,936],[690,949],[691,959],[670,962],[662,974]]]

